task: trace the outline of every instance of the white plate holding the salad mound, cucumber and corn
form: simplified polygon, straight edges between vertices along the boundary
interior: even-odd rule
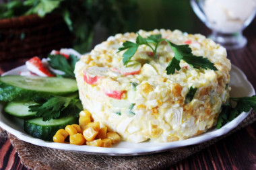
[[[20,71],[25,71],[26,67],[18,67],[11,71],[8,71],[4,75],[18,75]],[[247,80],[245,74],[232,65],[232,69],[230,71],[230,86],[232,87],[231,96],[232,97],[244,97],[255,95],[255,91],[251,83]],[[150,153],[159,153],[163,151],[168,151],[172,148],[178,148],[181,146],[188,146],[191,144],[199,144],[201,142],[205,142],[212,138],[216,138],[218,136],[222,136],[223,134],[228,133],[230,130],[238,126],[242,120],[244,120],[249,113],[243,112],[236,119],[232,120],[232,122],[226,124],[220,129],[212,128],[212,130],[208,130],[207,132],[195,136],[193,138],[189,138],[187,140],[174,141],[174,142],[142,142],[138,144],[134,144],[131,142],[119,142],[119,144],[115,144],[111,148],[100,148],[95,146],[77,146],[73,144],[60,144],[55,142],[46,142],[44,140],[40,140],[38,138],[33,138],[26,134],[23,130],[23,121],[18,118],[13,118],[6,114],[1,114],[2,105],[0,105],[0,126],[1,128],[7,130],[11,134],[17,136],[21,140],[26,142],[30,142],[32,144],[36,144],[38,146],[46,146],[49,148],[58,148],[66,151],[77,151],[87,154],[93,155],[146,155]]]

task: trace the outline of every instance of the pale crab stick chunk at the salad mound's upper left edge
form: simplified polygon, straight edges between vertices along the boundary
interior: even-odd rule
[[[105,67],[88,67],[84,70],[84,81],[89,85],[96,85],[99,79],[105,77],[107,71]]]

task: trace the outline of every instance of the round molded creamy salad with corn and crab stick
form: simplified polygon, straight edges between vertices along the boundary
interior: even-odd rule
[[[134,45],[138,36],[165,41],[154,51],[146,42]],[[195,67],[191,63],[197,58],[191,58],[189,64],[180,60],[180,68],[167,73],[175,52],[184,49],[172,48],[168,42],[187,44],[193,55],[207,58],[216,70]],[[121,49],[125,45],[129,48]],[[216,124],[221,105],[229,97],[230,68],[225,48],[205,36],[139,30],[110,36],[98,44],[76,63],[75,77],[84,109],[94,121],[118,132],[122,140],[170,142],[197,136]]]

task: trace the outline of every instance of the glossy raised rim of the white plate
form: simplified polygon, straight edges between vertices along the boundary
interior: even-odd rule
[[[20,71],[22,69],[26,69],[26,65],[22,65],[20,67],[16,67],[15,69],[11,69],[10,71],[7,71],[4,73],[2,76],[5,75],[11,75],[12,72],[15,71]],[[232,69],[236,71],[236,73],[239,73],[243,79],[245,79],[245,83],[249,85],[251,88],[251,95],[255,95],[255,90],[253,88],[253,85],[251,85],[251,82],[248,81],[247,76],[241,69],[236,67],[235,65],[232,65]],[[231,69],[231,71],[232,71]],[[231,73],[230,71],[230,73]],[[1,105],[2,108],[2,105]],[[125,148],[125,147],[118,147],[118,144],[113,145],[114,147],[111,148],[101,148],[101,147],[96,147],[96,146],[77,146],[73,144],[62,144],[62,143],[56,143],[56,142],[49,142],[45,140],[41,140],[38,138],[34,138],[24,132],[20,132],[19,130],[15,130],[2,122],[1,116],[3,116],[1,110],[0,110],[0,127],[6,130],[7,132],[13,134],[20,140],[23,140],[25,142],[29,142],[31,144],[35,144],[37,146],[44,146],[44,147],[49,147],[49,148],[56,148],[56,149],[61,149],[63,151],[73,151],[73,152],[82,152],[90,155],[110,155],[110,156],[136,156],[136,155],[148,155],[152,153],[160,153],[164,151],[169,151],[174,148],[179,148],[183,146],[189,146],[192,144],[199,144],[202,142],[205,142],[207,140],[212,140],[218,136],[222,136],[224,134],[227,134],[230,132],[232,129],[236,128],[238,124],[240,124],[249,114],[249,112],[243,112],[240,114],[238,117],[236,117],[232,122],[229,122],[228,124],[224,125],[222,128],[218,130],[209,130],[208,132],[203,133],[202,135],[199,136],[194,136],[191,138],[188,138],[186,140],[178,140],[174,142],[149,142],[149,143],[156,143],[156,146],[149,146],[149,147],[135,147],[135,148]],[[22,129],[23,130],[23,129]],[[206,138],[205,136],[210,136]],[[125,143],[124,141],[122,141]],[[129,144],[135,144],[128,142]],[[145,142],[144,142],[145,143]],[[139,143],[141,144],[141,143]],[[139,144],[135,144],[139,146]],[[159,145],[157,145],[159,144]],[[116,147],[117,146],[117,147]]]

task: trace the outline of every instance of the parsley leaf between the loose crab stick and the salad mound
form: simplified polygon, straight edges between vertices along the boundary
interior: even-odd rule
[[[66,59],[63,55],[57,54],[57,55],[49,55],[49,65],[53,69],[57,69],[60,71],[65,72],[65,75],[62,75],[63,77],[71,77],[74,78],[75,74],[75,62],[77,62],[77,57],[73,54],[69,55],[69,58]]]

